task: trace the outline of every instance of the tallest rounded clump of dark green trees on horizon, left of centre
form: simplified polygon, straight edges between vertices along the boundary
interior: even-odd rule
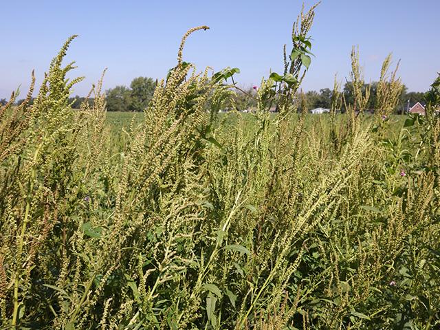
[[[155,81],[152,78],[137,77],[130,87],[116,86],[106,91],[108,111],[144,111],[153,98]]]

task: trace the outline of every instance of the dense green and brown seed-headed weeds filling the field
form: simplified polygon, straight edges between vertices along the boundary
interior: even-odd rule
[[[218,113],[236,69],[182,61],[206,26],[144,115],[107,118],[102,79],[73,111],[70,38],[0,110],[1,327],[438,329],[440,78],[397,118],[386,58],[367,116],[353,50],[347,113],[336,83],[329,115],[298,114],[313,19],[250,114]]]

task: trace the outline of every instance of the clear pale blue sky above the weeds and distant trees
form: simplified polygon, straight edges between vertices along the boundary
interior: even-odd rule
[[[312,1],[307,0],[306,5]],[[104,89],[129,85],[137,76],[161,78],[176,63],[181,36],[198,25],[184,60],[198,69],[239,67],[242,86],[258,85],[270,69],[281,72],[283,44],[302,2],[242,1],[11,1],[0,0],[0,98],[28,88],[35,69],[41,82],[52,57],[79,34],[66,61],[86,76],[74,94],[83,96],[108,67]],[[352,45],[360,46],[365,78],[377,80],[389,52],[401,59],[409,91],[426,91],[440,72],[440,0],[322,0],[316,10],[313,58],[305,91],[332,87],[349,76]]]

